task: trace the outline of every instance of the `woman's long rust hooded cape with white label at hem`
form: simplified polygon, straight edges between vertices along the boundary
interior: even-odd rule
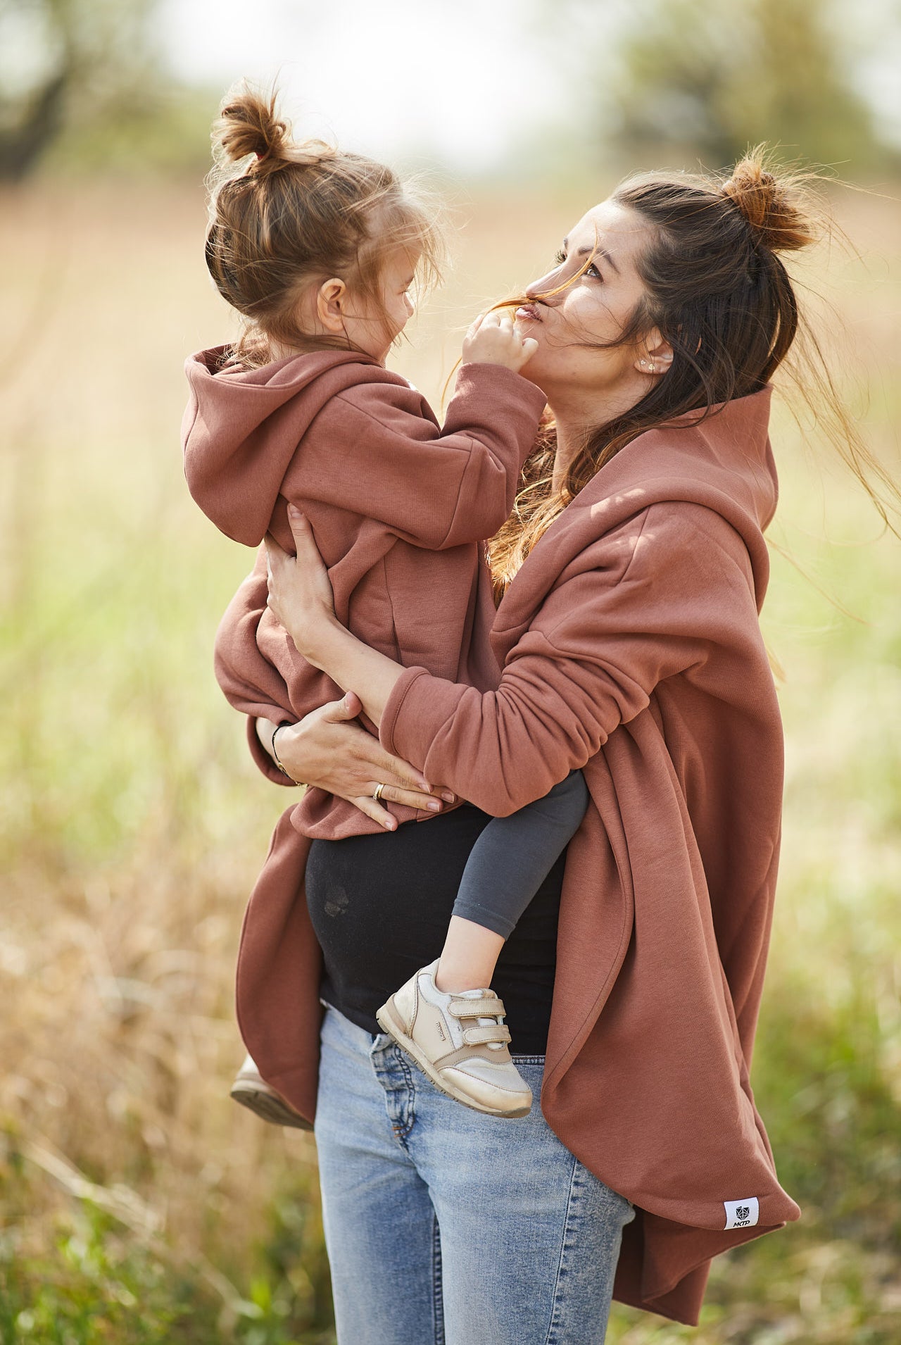
[[[714,1255],[799,1216],[748,1079],[783,783],[758,627],[776,506],[768,414],[764,390],[623,449],[504,597],[498,689],[407,668],[381,726],[390,751],[494,814],[584,767],[592,806],[567,853],[541,1106],[636,1206],[616,1298],[690,1323]],[[256,646],[234,639],[264,604],[258,576],[230,608],[226,691],[270,685]],[[264,1077],[312,1118],[308,847],[285,814],[245,917],[237,1001]]]

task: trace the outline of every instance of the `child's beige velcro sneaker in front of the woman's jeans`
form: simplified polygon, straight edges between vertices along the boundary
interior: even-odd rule
[[[437,966],[436,958],[382,1005],[379,1028],[448,1098],[489,1116],[527,1116],[531,1088],[510,1059],[502,1001],[494,990],[445,994]]]

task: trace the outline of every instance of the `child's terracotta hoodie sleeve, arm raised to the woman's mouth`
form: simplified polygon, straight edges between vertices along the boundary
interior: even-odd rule
[[[281,486],[371,518],[414,546],[492,537],[514,506],[545,394],[498,364],[464,364],[444,428],[402,385],[362,382],[311,422]]]

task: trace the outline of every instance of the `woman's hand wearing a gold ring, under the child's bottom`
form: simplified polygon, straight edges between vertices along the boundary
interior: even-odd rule
[[[444,806],[441,799],[453,803],[455,795],[449,790],[430,792],[425,776],[409,761],[391,756],[378,738],[359,724],[350,722],[360,709],[358,697],[348,691],[342,701],[323,705],[304,716],[300,724],[280,729],[276,746],[285,771],[295,780],[347,799],[386,831],[394,831],[398,823],[373,798],[379,784],[385,785],[382,799],[386,802],[403,803],[424,812],[440,812]],[[260,741],[269,755],[273,728],[265,720],[257,721]]]

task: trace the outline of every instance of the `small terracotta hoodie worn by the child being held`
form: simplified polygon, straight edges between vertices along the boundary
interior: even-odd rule
[[[186,363],[184,473],[203,512],[247,546],[272,533],[293,550],[286,508],[303,507],[346,625],[407,667],[494,686],[483,543],[512,508],[543,394],[508,369],[464,364],[440,428],[421,393],[366,355],[317,351],[230,370],[223,354]],[[227,685],[246,714],[299,720],[342,694],[268,609],[237,639],[253,640],[268,664],[262,686]],[[379,830],[321,790],[305,792],[293,824],[332,839]]]

